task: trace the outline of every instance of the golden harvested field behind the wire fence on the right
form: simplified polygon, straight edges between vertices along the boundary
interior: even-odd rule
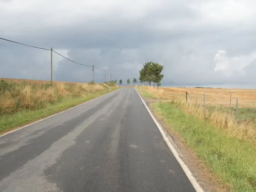
[[[218,109],[218,111],[230,111],[230,93],[231,112],[236,113],[236,98],[239,100],[239,119],[256,119],[256,90],[250,89],[215,89],[215,88],[180,88],[180,87],[160,87],[159,90],[153,87],[146,88],[149,93],[163,100],[181,100],[186,102],[186,91],[189,94],[191,105],[203,106],[204,93],[205,105],[209,109]],[[192,98],[192,99],[191,99]]]

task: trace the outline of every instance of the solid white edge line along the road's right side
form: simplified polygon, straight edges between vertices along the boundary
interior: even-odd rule
[[[134,87],[134,89],[136,90],[136,92],[138,93],[138,95],[140,96],[140,93],[137,91],[137,89]],[[148,108],[148,106],[146,105],[145,101],[142,99],[142,97],[140,96],[140,99],[142,100],[143,104],[145,105],[145,108],[148,110],[148,113],[150,114],[151,118],[153,119],[154,123],[157,125],[160,133],[163,136],[163,139],[165,140],[166,144],[168,145],[168,147],[170,148],[170,150],[172,151],[172,154],[174,155],[174,157],[176,158],[176,160],[178,161],[178,163],[180,164],[181,168],[183,169],[183,171],[185,172],[186,176],[188,177],[190,183],[192,184],[192,186],[195,188],[195,190],[197,192],[205,192],[204,189],[201,187],[200,183],[198,183],[198,181],[196,180],[196,178],[194,177],[194,175],[192,174],[192,172],[190,171],[190,169],[188,168],[188,166],[184,163],[184,161],[179,157],[178,152],[176,151],[175,147],[172,145],[172,139],[170,137],[168,137],[169,135],[165,133],[163,127],[160,125],[160,123],[157,121],[157,119],[154,117],[153,113],[150,111],[150,109]]]

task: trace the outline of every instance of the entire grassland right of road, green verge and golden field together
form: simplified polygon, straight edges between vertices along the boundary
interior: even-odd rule
[[[186,91],[198,105],[186,102]],[[220,191],[256,191],[256,90],[143,86],[139,92],[167,132],[179,135],[215,175]],[[229,110],[230,92],[232,107],[239,98],[238,120]]]

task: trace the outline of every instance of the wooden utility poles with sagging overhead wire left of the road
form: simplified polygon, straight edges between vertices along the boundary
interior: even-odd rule
[[[9,39],[5,39],[5,38],[0,38],[0,40],[3,40],[3,41],[8,41],[8,42],[11,42],[11,43],[15,43],[15,44],[20,44],[20,45],[23,45],[23,46],[26,46],[26,47],[32,47],[32,48],[35,48],[35,49],[43,49],[43,50],[46,50],[46,51],[50,51],[50,57],[51,57],[51,62],[50,62],[50,73],[51,73],[51,77],[50,77],[50,81],[52,82],[52,52],[56,53],[57,55],[67,59],[68,61],[71,61],[75,64],[79,64],[81,66],[84,66],[84,67],[92,67],[92,82],[95,82],[94,81],[94,68],[96,70],[99,70],[101,72],[105,72],[105,81],[106,81],[106,73],[108,74],[108,71],[107,70],[100,70],[98,67],[96,67],[95,65],[86,65],[86,64],[81,64],[79,62],[76,62],[76,61],[73,61],[72,59],[70,58],[67,58],[65,57],[64,55],[61,55],[60,53],[58,53],[57,51],[55,51],[54,49],[47,49],[47,48],[43,48],[43,47],[36,47],[36,46],[32,46],[32,45],[28,45],[28,44],[23,44],[23,43],[20,43],[20,42],[17,42],[17,41],[11,41]]]

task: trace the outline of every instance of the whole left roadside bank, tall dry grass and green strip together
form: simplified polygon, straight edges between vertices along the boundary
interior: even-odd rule
[[[0,79],[0,134],[115,90],[116,84]]]

